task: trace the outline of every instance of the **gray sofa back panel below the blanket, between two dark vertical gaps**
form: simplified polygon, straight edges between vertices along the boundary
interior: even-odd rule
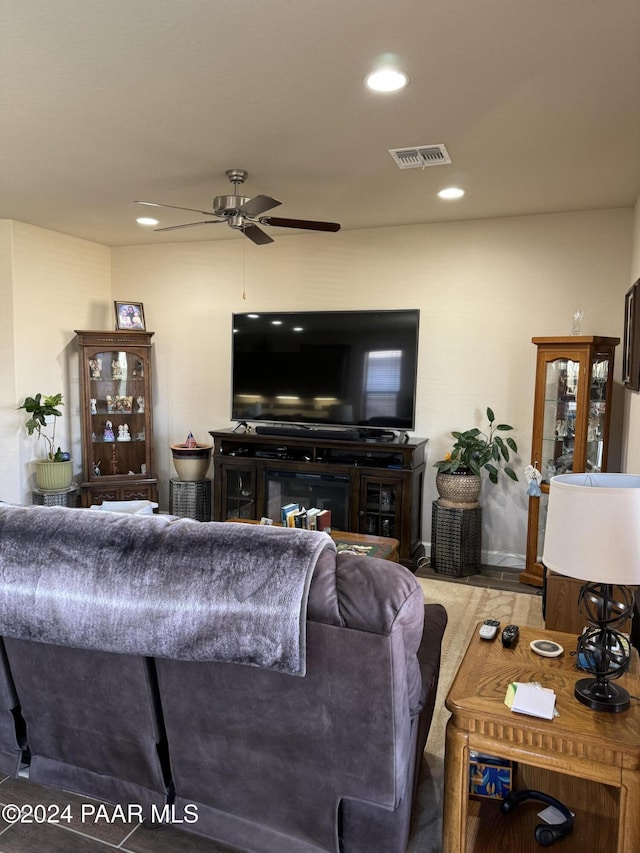
[[[29,778],[100,800],[167,799],[169,767],[153,662],[5,637],[26,722]]]

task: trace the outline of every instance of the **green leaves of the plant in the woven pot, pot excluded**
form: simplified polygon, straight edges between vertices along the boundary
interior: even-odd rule
[[[488,407],[487,420],[487,433],[475,427],[465,432],[451,433],[455,438],[453,449],[444,459],[434,464],[440,474],[462,474],[468,471],[480,477],[484,469],[492,483],[498,482],[501,471],[512,480],[518,479],[516,472],[507,464],[510,461],[509,451],[517,453],[518,445],[511,436],[504,439],[498,434],[508,432],[513,427],[509,424],[496,424],[493,409]]]

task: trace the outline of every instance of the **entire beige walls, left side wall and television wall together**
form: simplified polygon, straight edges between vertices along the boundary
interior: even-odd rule
[[[428,543],[436,497],[431,463],[449,449],[449,432],[482,426],[491,405],[516,427],[521,470],[530,453],[531,337],[568,334],[578,306],[585,334],[621,336],[624,294],[634,276],[640,276],[638,210],[635,218],[632,210],[612,210],[293,234],[262,247],[231,235],[113,250],[0,222],[0,498],[30,500],[29,462],[42,448],[26,437],[23,414],[15,411],[27,394],[65,395],[60,443],[72,450],[79,473],[73,330],[113,328],[113,299],[143,302],[147,328],[155,332],[155,447],[164,509],[174,475],[169,445],[189,430],[202,441],[209,429],[230,425],[232,312],[417,307],[416,434],[430,439]],[[622,396],[626,464],[639,471],[638,395]],[[484,559],[521,565],[524,483],[485,484],[482,500]]]

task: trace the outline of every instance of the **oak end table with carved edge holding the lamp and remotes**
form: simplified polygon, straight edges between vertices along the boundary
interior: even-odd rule
[[[542,658],[531,640],[547,638],[565,649]],[[469,799],[469,752],[517,762],[514,790],[533,788],[557,797],[575,812],[573,833],[558,842],[565,851],[632,853],[640,850],[640,702],[619,714],[592,711],[574,698],[576,635],[520,627],[515,649],[500,635],[481,640],[477,630],[451,685],[447,724],[443,851],[537,851],[535,826],[544,803],[520,804],[503,815],[500,800]],[[539,681],[556,692],[560,716],[543,720],[515,714],[504,704],[512,681]],[[619,681],[640,696],[640,665]]]

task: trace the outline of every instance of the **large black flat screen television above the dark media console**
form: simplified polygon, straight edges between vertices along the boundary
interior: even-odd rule
[[[420,311],[233,315],[231,419],[412,430]]]

